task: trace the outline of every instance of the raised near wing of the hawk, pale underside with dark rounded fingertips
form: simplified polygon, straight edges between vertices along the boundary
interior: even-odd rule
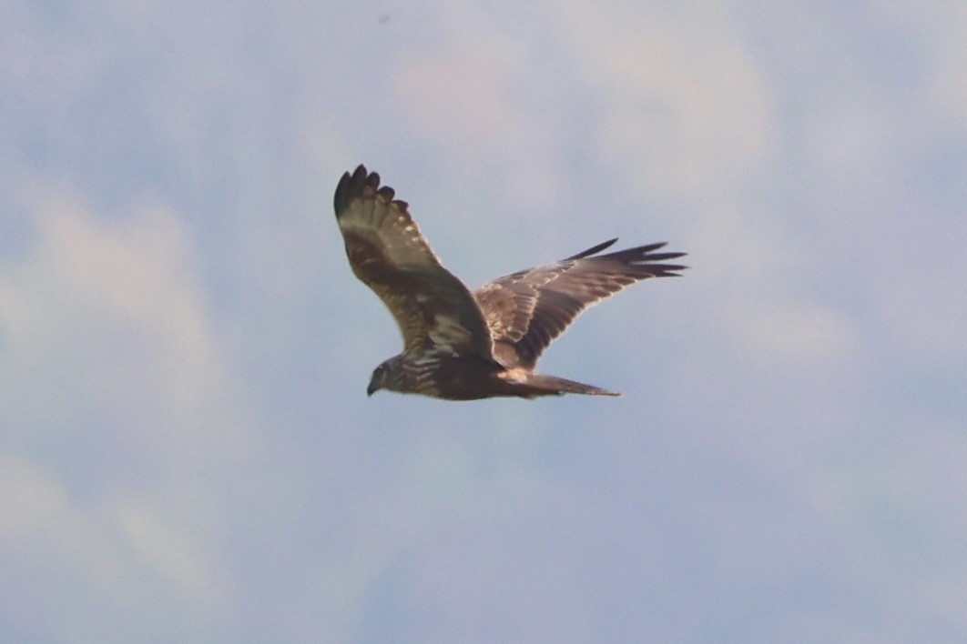
[[[336,188],[336,218],[353,272],[396,318],[406,352],[491,356],[490,331],[460,280],[440,265],[406,202],[359,166]]]

